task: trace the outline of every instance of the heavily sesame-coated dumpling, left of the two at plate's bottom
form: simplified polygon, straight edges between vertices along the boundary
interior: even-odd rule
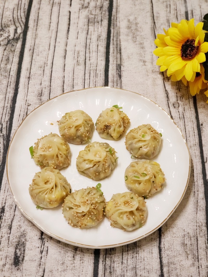
[[[73,192],[63,203],[63,215],[73,227],[89,228],[103,220],[105,198],[96,188]]]

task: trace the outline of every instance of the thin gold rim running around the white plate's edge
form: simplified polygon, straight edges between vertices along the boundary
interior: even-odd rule
[[[183,197],[184,197],[184,194],[186,193],[186,189],[187,189],[187,186],[188,186],[188,183],[189,183],[189,178],[190,178],[191,155],[190,155],[189,148],[188,148],[188,145],[187,145],[187,143],[186,143],[186,140],[184,139],[184,136],[183,136],[182,133],[181,133],[181,130],[179,129],[179,127],[177,126],[177,124],[174,122],[174,120],[171,118],[171,116],[169,116],[169,114],[168,114],[163,108],[161,108],[158,104],[156,104],[154,101],[150,100],[149,98],[147,98],[147,97],[145,97],[145,96],[143,96],[143,95],[141,95],[141,94],[139,94],[139,93],[136,93],[136,92],[134,92],[134,91],[130,91],[130,90],[127,90],[127,89],[111,88],[111,87],[107,87],[107,86],[106,86],[106,87],[100,86],[100,87],[91,87],[91,88],[77,89],[77,90],[73,90],[73,91],[68,91],[68,92],[63,93],[63,94],[67,94],[67,93],[71,93],[71,92],[76,92],[76,91],[82,91],[82,90],[85,90],[85,89],[93,89],[93,88],[120,89],[120,90],[123,90],[123,91],[128,91],[128,92],[130,92],[130,93],[138,94],[138,95],[140,95],[141,97],[143,97],[144,99],[153,102],[156,106],[158,106],[161,110],[163,110],[163,111],[165,112],[165,114],[167,114],[167,116],[171,119],[171,121],[176,125],[177,129],[179,130],[179,133],[181,134],[181,136],[182,136],[182,138],[183,138],[183,140],[184,140],[184,143],[185,143],[185,145],[186,145],[186,147],[187,147],[187,150],[188,150],[188,153],[189,153],[189,173],[188,173],[188,178],[187,178],[186,186],[185,186],[185,188],[184,188],[184,192],[183,192],[181,198],[179,199],[178,203],[177,203],[176,206],[174,207],[174,209],[169,213],[169,215],[166,217],[166,219],[163,220],[163,222],[161,222],[157,227],[155,227],[153,230],[149,231],[148,233],[146,233],[146,234],[144,234],[144,235],[142,235],[142,236],[140,236],[140,237],[138,237],[138,238],[134,238],[134,239],[132,239],[132,240],[128,240],[128,241],[126,241],[126,242],[121,242],[121,243],[116,243],[116,244],[110,244],[110,245],[87,245],[87,244],[82,244],[82,243],[78,243],[78,242],[73,242],[73,241],[71,241],[71,240],[67,240],[67,239],[65,239],[65,238],[61,238],[61,237],[59,237],[59,236],[57,236],[57,235],[54,235],[54,234],[48,232],[47,230],[45,230],[44,228],[42,228],[34,219],[32,219],[30,216],[28,216],[28,215],[26,214],[26,212],[24,212],[24,211],[22,210],[21,206],[19,205],[19,203],[17,202],[16,198],[14,197],[14,194],[13,194],[13,192],[12,192],[12,189],[11,189],[11,186],[10,186],[10,183],[9,183],[9,176],[8,176],[8,171],[7,171],[7,168],[8,168],[8,154],[9,154],[9,149],[10,149],[10,146],[11,146],[11,144],[12,144],[12,141],[13,141],[13,139],[14,139],[14,137],[15,137],[15,135],[16,135],[16,132],[18,131],[19,127],[22,125],[22,123],[24,122],[24,120],[25,120],[33,111],[35,111],[37,108],[39,108],[40,106],[42,106],[42,105],[45,104],[46,102],[49,102],[49,101],[51,101],[51,100],[53,100],[53,99],[59,97],[59,96],[62,95],[62,94],[59,94],[59,95],[57,95],[57,96],[55,96],[55,97],[53,97],[53,98],[51,98],[51,99],[45,101],[44,103],[40,104],[38,107],[36,107],[34,110],[32,110],[32,111],[22,120],[21,124],[19,125],[19,127],[17,128],[16,132],[14,133],[14,135],[13,135],[13,137],[12,137],[12,140],[11,140],[11,142],[10,142],[10,144],[9,144],[9,148],[8,148],[8,151],[7,151],[7,156],[6,156],[6,174],[7,174],[7,181],[8,181],[8,184],[9,184],[9,189],[10,189],[10,191],[11,191],[11,194],[12,194],[12,196],[13,196],[13,198],[14,198],[14,201],[15,201],[16,204],[17,204],[17,207],[19,208],[19,210],[22,212],[22,214],[23,214],[27,219],[29,219],[31,222],[33,222],[33,223],[34,223],[40,230],[42,230],[45,234],[47,234],[47,235],[49,235],[49,236],[51,236],[51,237],[53,237],[53,238],[56,238],[56,239],[58,239],[58,240],[61,240],[62,242],[66,242],[66,243],[69,243],[69,244],[72,244],[72,245],[75,245],[75,246],[78,245],[78,246],[82,246],[82,247],[86,247],[86,248],[93,248],[93,249],[98,248],[98,249],[99,249],[99,248],[117,247],[117,246],[126,245],[126,244],[129,244],[129,243],[135,242],[135,241],[137,241],[137,240],[140,240],[141,238],[147,237],[148,235],[152,234],[154,231],[156,231],[157,229],[159,229],[159,227],[161,227],[161,226],[169,219],[169,217],[170,217],[170,216],[173,214],[173,212],[176,210],[177,206],[180,204],[181,200],[182,200]]]

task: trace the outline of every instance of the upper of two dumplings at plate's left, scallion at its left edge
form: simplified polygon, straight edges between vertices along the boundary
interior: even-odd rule
[[[61,169],[68,166],[71,159],[69,144],[57,134],[45,135],[37,140],[33,152],[34,161],[41,168],[50,166]]]

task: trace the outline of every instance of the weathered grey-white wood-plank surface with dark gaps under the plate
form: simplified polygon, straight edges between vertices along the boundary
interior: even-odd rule
[[[208,12],[206,0],[0,0],[0,276],[208,276],[208,104],[159,73],[156,34]],[[40,231],[16,207],[6,154],[24,117],[67,91],[110,86],[167,111],[191,153],[187,192],[138,242],[93,250]]]

